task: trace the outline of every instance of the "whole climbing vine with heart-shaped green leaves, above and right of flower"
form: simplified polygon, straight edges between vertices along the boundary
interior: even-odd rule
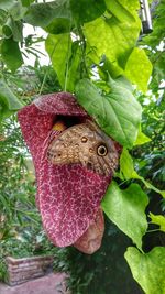
[[[157,94],[163,79],[162,52],[152,52],[164,40],[163,6],[161,1],[155,18],[156,30],[161,28],[155,43],[155,31],[146,37],[141,34],[138,0],[0,1],[0,120],[22,107],[6,73],[15,73],[23,65],[23,54],[29,56],[32,44],[23,36],[23,26],[41,26],[47,32],[45,48],[62,90],[76,94],[100,128],[123,146],[120,171],[107,190],[102,209],[132,239],[134,246],[124,255],[133,277],[147,294],[161,294],[165,288],[165,248],[155,247],[148,253],[143,250],[147,190],[162,198],[165,192],[139,174],[131,150],[152,139],[142,132],[140,101],[151,85]],[[164,216],[151,211],[150,219],[165,231]]]

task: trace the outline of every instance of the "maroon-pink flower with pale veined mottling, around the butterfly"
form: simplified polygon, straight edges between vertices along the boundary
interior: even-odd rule
[[[48,238],[58,247],[73,244],[88,229],[111,181],[80,164],[53,165],[45,157],[57,115],[87,117],[67,92],[44,95],[19,111],[21,129],[33,156],[38,206]]]

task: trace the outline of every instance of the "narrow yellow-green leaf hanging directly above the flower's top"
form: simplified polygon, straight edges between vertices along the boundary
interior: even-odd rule
[[[48,35],[45,42],[46,51],[64,90],[74,91],[79,79],[80,47],[72,42],[69,34]]]

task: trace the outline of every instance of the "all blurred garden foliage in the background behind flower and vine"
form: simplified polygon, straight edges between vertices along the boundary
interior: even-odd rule
[[[154,66],[150,92],[146,96],[140,95],[143,105],[142,130],[152,141],[135,146],[132,156],[138,173],[157,188],[164,189],[165,4],[164,0],[158,2],[153,11],[153,33],[139,40],[140,45],[145,46]],[[31,42],[28,42],[29,40]],[[32,36],[29,40],[28,46],[32,46],[33,41],[36,42]],[[37,53],[35,54],[34,67],[25,66],[14,74],[1,64],[8,86],[24,105],[30,104],[40,94],[61,90],[52,66],[41,66]],[[34,171],[15,115],[2,120],[0,124],[0,280],[6,276],[4,258],[9,254],[20,258],[41,253],[54,254],[54,269],[69,274],[68,287],[73,294],[118,294],[122,293],[123,288],[124,294],[143,293],[132,280],[123,258],[131,241],[108,219],[102,247],[91,257],[74,248],[57,249],[46,239],[35,206]],[[151,199],[147,210],[164,214],[165,200],[153,190],[147,189],[146,193]],[[150,251],[154,246],[165,246],[165,237],[156,225],[151,224],[144,237],[144,248]]]

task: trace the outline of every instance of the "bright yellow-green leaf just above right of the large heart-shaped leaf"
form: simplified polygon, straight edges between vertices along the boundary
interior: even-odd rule
[[[125,76],[143,92],[147,90],[152,64],[142,48],[134,48],[125,65]]]

